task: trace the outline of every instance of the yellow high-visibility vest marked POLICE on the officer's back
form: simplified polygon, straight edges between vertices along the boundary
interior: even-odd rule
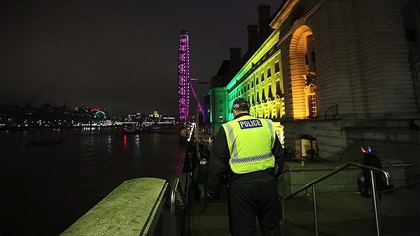
[[[230,168],[237,174],[274,167],[276,132],[272,120],[241,116],[223,124],[230,151]]]

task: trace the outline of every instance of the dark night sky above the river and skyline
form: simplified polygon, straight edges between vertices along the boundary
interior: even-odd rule
[[[190,77],[209,82],[229,48],[246,53],[262,4],[273,15],[281,1],[1,0],[0,102],[177,115],[181,30]]]

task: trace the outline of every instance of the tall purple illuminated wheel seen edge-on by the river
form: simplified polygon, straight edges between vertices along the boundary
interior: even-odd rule
[[[188,31],[181,31],[179,37],[178,53],[178,105],[179,121],[188,120],[188,111],[190,109],[190,46],[188,43]]]

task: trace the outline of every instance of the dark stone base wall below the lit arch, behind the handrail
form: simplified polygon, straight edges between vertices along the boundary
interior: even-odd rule
[[[395,125],[398,121],[389,123]],[[355,127],[352,126],[354,124],[355,122],[349,120],[281,122],[284,126],[285,146],[290,146],[293,153],[297,152],[295,150],[297,137],[300,134],[307,134],[318,142],[321,159],[332,162],[361,161],[363,155],[360,147],[371,146],[379,159],[413,164],[412,174],[419,175],[420,132],[418,130],[408,130],[408,127]]]

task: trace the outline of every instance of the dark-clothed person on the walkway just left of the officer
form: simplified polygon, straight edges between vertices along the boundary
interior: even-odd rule
[[[207,206],[207,179],[209,177],[207,158],[200,158],[197,167],[195,167],[194,181],[200,191],[200,210],[204,212]]]

